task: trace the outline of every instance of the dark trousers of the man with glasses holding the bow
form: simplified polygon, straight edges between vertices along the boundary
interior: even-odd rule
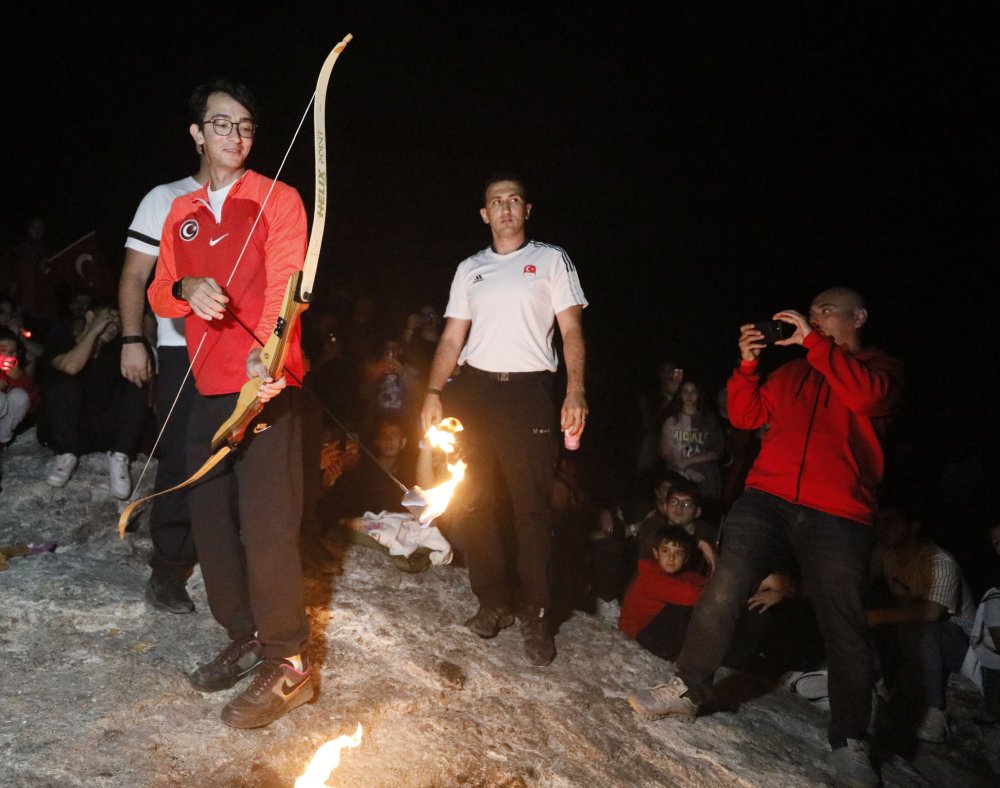
[[[302,435],[299,389],[271,400],[235,452],[188,494],[191,527],[212,615],[233,640],[257,632],[266,658],[305,650],[299,529]],[[188,424],[188,467],[209,456],[236,394],[198,395]]]

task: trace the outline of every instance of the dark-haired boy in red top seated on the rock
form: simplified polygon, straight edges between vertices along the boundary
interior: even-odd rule
[[[635,580],[625,591],[618,628],[647,651],[674,660],[705,577],[687,568],[697,551],[695,538],[678,525],[663,526],[649,558],[640,558]]]

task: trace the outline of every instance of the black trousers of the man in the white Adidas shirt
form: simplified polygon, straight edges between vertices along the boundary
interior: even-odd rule
[[[552,481],[559,448],[552,376],[501,382],[462,374],[446,396],[445,415],[464,427],[460,441],[469,468],[456,512],[472,591],[483,605],[551,607]],[[501,519],[504,486],[512,523]]]

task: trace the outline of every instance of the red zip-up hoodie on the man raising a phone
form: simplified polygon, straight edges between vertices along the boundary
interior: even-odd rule
[[[885,457],[881,439],[898,408],[903,367],[874,348],[851,353],[813,331],[806,357],[761,383],[743,361],[727,386],[739,429],[768,425],[746,486],[870,525]]]

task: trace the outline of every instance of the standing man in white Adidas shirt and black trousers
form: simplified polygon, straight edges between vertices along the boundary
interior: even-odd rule
[[[426,430],[441,420],[442,390],[457,365],[447,405],[449,415],[465,427],[469,470],[458,517],[469,580],[479,600],[478,612],[465,623],[491,638],[511,626],[519,610],[528,660],[548,665],[555,657],[549,620],[550,498],[559,448],[552,400],[559,358],[553,334],[558,324],[566,364],[559,426],[579,438],[587,416],[582,324],[587,300],[569,255],[527,239],[531,203],[520,179],[491,178],[479,214],[493,242],[455,272],[422,421]],[[497,470],[513,507],[516,556],[509,558],[499,520]]]

